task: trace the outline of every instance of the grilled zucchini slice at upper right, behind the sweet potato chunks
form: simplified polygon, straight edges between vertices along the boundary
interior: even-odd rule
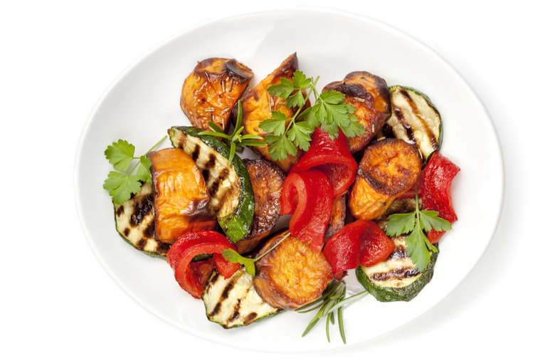
[[[406,92],[405,94],[406,94],[407,97],[408,96],[414,97],[414,95],[416,95],[418,97],[423,98],[423,100],[425,100],[425,103],[427,103],[427,105],[428,105],[430,113],[435,113],[435,115],[438,117],[438,124],[435,125],[433,128],[428,127],[432,132],[437,133],[437,135],[432,136],[432,138],[433,138],[432,142],[435,143],[435,144],[425,145],[425,142],[423,142],[422,144],[419,144],[418,140],[414,139],[413,134],[412,134],[413,129],[411,129],[411,125],[416,125],[416,124],[415,123],[410,124],[410,123],[411,123],[411,120],[414,122],[414,120],[416,120],[420,116],[413,115],[412,113],[405,114],[405,116],[407,118],[406,122],[409,123],[407,125],[408,129],[406,130],[406,132],[401,132],[398,129],[398,125],[396,127],[395,122],[396,122],[396,120],[398,120],[398,114],[396,114],[396,113],[401,112],[401,110],[396,106],[395,97],[393,95],[398,90],[405,91]],[[433,153],[438,152],[438,150],[440,150],[440,147],[443,143],[443,121],[441,120],[441,116],[438,112],[438,109],[432,103],[432,100],[430,100],[428,95],[425,95],[421,91],[416,90],[416,89],[411,88],[411,87],[401,86],[401,85],[391,85],[389,87],[389,93],[391,95],[391,107],[393,108],[393,111],[391,113],[391,117],[387,120],[386,123],[393,128],[393,133],[395,134],[395,137],[406,140],[407,142],[415,143],[416,146],[418,147],[418,150],[421,151],[424,162],[427,162],[428,159],[430,159],[430,157],[433,155]],[[413,93],[413,95],[410,95],[410,93]],[[418,111],[417,104],[414,103],[413,106]],[[420,117],[420,118],[421,118],[421,120],[423,119],[422,117]],[[419,122],[418,120],[416,121],[416,123],[419,123],[418,125],[420,125],[423,128],[428,126],[428,124],[422,125],[422,123]],[[395,129],[397,129],[397,130],[395,130]],[[418,127],[416,127],[416,130],[418,130]],[[425,139],[425,137],[423,137],[423,138]]]

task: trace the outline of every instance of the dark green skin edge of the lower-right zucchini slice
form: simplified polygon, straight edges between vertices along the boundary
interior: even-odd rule
[[[437,244],[435,244],[437,248]],[[356,279],[361,283],[366,291],[368,291],[371,295],[379,300],[380,302],[393,302],[393,301],[409,301],[422,291],[424,286],[426,286],[432,279],[433,276],[433,268],[435,266],[435,261],[438,259],[438,252],[431,252],[430,255],[430,263],[428,263],[428,267],[426,267],[425,271],[421,273],[419,276],[415,278],[415,280],[408,284],[407,286],[403,287],[385,287],[379,286],[376,283],[372,282],[369,276],[366,274],[366,271],[369,268],[365,268],[363,266],[359,266],[356,268]]]

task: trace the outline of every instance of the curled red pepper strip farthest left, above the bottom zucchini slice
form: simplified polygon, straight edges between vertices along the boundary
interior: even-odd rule
[[[236,246],[231,244],[231,241],[226,236],[223,236],[223,234],[219,234],[216,231],[189,232],[179,237],[171,245],[166,261],[173,268],[174,276],[179,286],[189,292],[194,298],[201,298],[204,282],[208,275],[206,274],[206,269],[202,271],[199,267],[206,268],[206,265],[210,263],[203,261],[200,261],[203,263],[191,263],[191,260],[198,254],[214,253],[213,261],[216,263],[218,273],[221,273],[223,276],[227,275],[227,278],[235,273],[240,265],[239,263],[229,263],[221,254],[218,254],[226,248],[232,248],[234,251],[237,251]],[[204,278],[205,276],[206,278]]]

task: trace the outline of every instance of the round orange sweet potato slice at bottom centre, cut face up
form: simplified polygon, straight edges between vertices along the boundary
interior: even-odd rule
[[[266,303],[295,310],[322,294],[332,281],[332,267],[324,253],[314,251],[288,230],[271,237],[258,254],[263,254],[282,237],[287,238],[255,263],[253,285]]]

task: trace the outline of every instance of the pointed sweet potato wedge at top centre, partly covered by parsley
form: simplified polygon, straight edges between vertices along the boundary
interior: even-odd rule
[[[266,89],[270,85],[280,83],[280,78],[292,79],[293,73],[299,68],[297,53],[287,57],[281,65],[264,78],[260,83],[255,85],[254,88],[248,90],[243,98],[241,98],[241,105],[243,106],[243,134],[260,135],[264,137],[268,133],[262,130],[258,125],[265,119],[272,117],[273,111],[280,111],[285,114],[287,118],[292,117],[297,109],[287,108],[285,101],[280,97],[275,97],[268,93]],[[310,102],[307,102],[305,107],[310,107]],[[237,117],[237,107],[233,109],[233,118]],[[289,155],[285,159],[274,160],[268,153],[268,146],[251,147],[260,157],[275,162],[284,172],[289,172],[293,164],[295,164],[302,154],[302,150],[297,148],[297,155]]]

